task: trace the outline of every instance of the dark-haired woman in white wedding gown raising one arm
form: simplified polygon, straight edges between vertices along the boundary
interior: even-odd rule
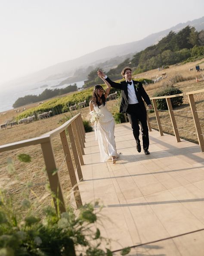
[[[99,76],[103,79],[102,76]],[[108,159],[112,159],[112,163],[116,163],[116,157],[118,157],[115,139],[114,139],[114,118],[111,112],[108,111],[106,106],[106,98],[111,89],[111,85],[103,79],[106,83],[106,90],[102,86],[96,85],[93,89],[93,97],[90,100],[90,114],[95,116],[95,132],[99,142],[100,159],[101,162],[105,162]]]

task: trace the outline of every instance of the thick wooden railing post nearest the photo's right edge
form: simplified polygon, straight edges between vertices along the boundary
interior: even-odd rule
[[[196,133],[197,133],[197,137],[198,137],[198,142],[199,142],[199,145],[201,147],[201,152],[204,152],[204,138],[203,138],[203,135],[201,135],[202,134],[202,129],[201,129],[201,124],[200,124],[199,118],[198,118],[198,112],[196,112],[197,109],[196,109],[196,106],[195,106],[195,100],[194,100],[193,94],[189,94],[188,99],[189,99],[189,104],[190,104],[192,115],[193,115],[193,121],[194,121],[194,124],[195,124],[195,129],[196,129]]]

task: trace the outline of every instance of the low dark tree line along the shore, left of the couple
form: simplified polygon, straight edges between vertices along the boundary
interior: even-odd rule
[[[37,95],[26,95],[24,97],[18,98],[14,104],[12,105],[13,108],[18,108],[20,106],[24,106],[26,104],[42,101],[45,99],[50,99],[55,96],[60,96],[65,93],[75,92],[77,91],[77,84],[74,83],[74,85],[69,85],[62,89],[45,89],[41,94]]]

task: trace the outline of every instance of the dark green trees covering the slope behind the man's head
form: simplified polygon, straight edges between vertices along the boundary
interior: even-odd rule
[[[133,58],[127,58],[117,67],[106,72],[106,74],[112,80],[117,80],[121,79],[121,70],[125,66],[130,66],[133,69],[133,74],[139,74],[183,61],[194,61],[203,55],[204,30],[197,32],[194,27],[186,26],[178,33],[170,31],[158,44],[151,45],[145,50],[134,54]],[[90,72],[84,87],[101,83],[101,79],[97,77],[97,69],[99,67]]]

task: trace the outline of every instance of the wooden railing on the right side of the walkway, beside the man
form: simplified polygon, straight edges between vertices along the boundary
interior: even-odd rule
[[[193,120],[194,120],[194,124],[195,124],[196,134],[198,137],[198,143],[201,147],[201,151],[204,152],[204,138],[203,138],[204,134],[202,134],[201,124],[200,124],[200,121],[198,118],[198,111],[196,109],[195,100],[194,100],[194,96],[193,96],[196,93],[204,93],[204,89],[192,91],[189,93],[180,93],[180,94],[176,94],[176,95],[170,95],[170,96],[152,97],[150,99],[152,100],[152,103],[153,103],[155,116],[156,116],[156,120],[157,120],[157,125],[158,125],[158,130],[159,130],[161,136],[163,136],[163,130],[162,130],[162,125],[161,125],[161,121],[160,121],[160,117],[159,117],[159,111],[157,108],[156,100],[157,99],[166,99],[168,110],[169,110],[169,115],[170,115],[170,119],[171,119],[171,123],[172,123],[172,128],[173,128],[173,131],[174,131],[174,134],[176,137],[176,141],[180,142],[179,129],[177,128],[176,119],[174,116],[174,111],[173,111],[170,99],[173,97],[188,96],[189,105],[191,108],[191,112],[192,112],[192,116],[193,116]],[[204,109],[202,112],[204,112]],[[148,122],[149,131],[151,131],[151,123],[149,121],[148,115],[147,115],[147,122]]]

